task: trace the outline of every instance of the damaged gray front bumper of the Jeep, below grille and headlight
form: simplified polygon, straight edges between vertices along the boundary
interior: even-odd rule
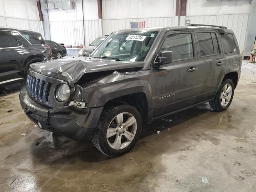
[[[76,141],[90,139],[103,109],[79,108],[74,105],[51,109],[32,100],[25,87],[19,97],[25,114],[40,128]]]

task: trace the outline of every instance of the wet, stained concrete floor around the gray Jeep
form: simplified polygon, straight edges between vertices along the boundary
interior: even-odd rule
[[[22,111],[18,89],[0,95],[1,191],[256,191],[253,64],[243,66],[228,110],[212,112],[204,104],[168,117],[172,122],[158,120],[118,158],[104,156],[91,142],[40,130]]]

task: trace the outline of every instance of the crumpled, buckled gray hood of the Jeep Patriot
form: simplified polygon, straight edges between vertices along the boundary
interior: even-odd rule
[[[114,61],[99,58],[84,60],[85,57],[67,59],[38,62],[31,64],[30,67],[40,74],[67,81],[71,85],[86,73],[142,68],[144,66],[144,62]]]

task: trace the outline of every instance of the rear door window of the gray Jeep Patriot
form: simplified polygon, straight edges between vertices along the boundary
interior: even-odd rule
[[[197,33],[200,55],[214,55],[220,53],[218,41],[215,33]]]

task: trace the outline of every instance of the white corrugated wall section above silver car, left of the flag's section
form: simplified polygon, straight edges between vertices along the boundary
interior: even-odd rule
[[[50,22],[51,40],[65,45],[79,46],[84,44],[83,30],[85,30],[85,44],[89,45],[101,35],[99,20],[84,20],[84,23],[82,20]]]

